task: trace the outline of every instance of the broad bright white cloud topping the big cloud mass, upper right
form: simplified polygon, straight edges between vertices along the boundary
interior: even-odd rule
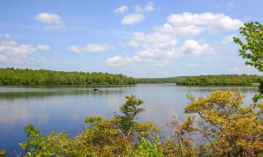
[[[175,27],[195,25],[203,27],[210,33],[220,31],[235,31],[243,25],[238,19],[232,19],[224,14],[217,13],[182,13],[172,14],[168,17],[168,22],[174,24]]]

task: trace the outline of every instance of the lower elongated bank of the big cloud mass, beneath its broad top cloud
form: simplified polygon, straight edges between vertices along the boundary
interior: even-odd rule
[[[187,55],[210,55],[215,50],[208,44],[200,44],[196,40],[186,40],[180,47],[146,47],[144,50],[137,51],[133,57],[112,57],[106,63],[112,66],[109,61],[116,61],[114,66],[123,66],[128,63],[145,63],[150,66],[166,66],[173,59]],[[122,61],[127,61],[122,63]]]

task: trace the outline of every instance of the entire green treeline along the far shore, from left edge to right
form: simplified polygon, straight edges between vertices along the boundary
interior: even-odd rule
[[[31,70],[0,68],[0,84],[222,84],[243,85],[259,83],[259,75],[200,75],[167,78],[133,78],[122,74],[64,72],[54,70]]]

